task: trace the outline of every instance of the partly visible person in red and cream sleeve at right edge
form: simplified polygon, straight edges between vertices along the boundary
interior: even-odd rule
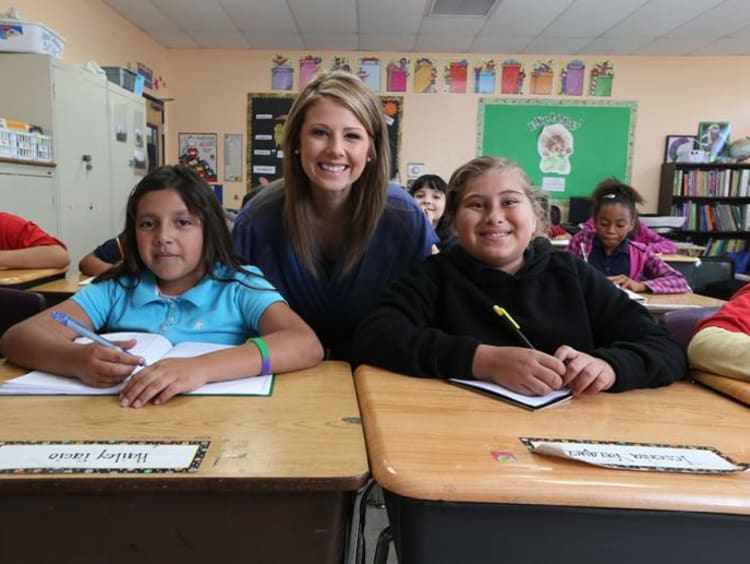
[[[687,351],[693,368],[750,380],[750,284],[698,323],[696,330]]]

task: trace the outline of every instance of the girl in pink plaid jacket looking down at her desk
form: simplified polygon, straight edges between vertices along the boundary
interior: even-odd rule
[[[689,292],[685,277],[653,251],[628,238],[638,221],[638,193],[627,184],[601,183],[592,194],[594,229],[582,229],[568,251],[603,272],[617,286],[634,292]]]

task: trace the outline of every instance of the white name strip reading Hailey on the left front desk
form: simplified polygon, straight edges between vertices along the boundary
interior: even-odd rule
[[[199,444],[93,443],[0,445],[0,470],[189,468]]]

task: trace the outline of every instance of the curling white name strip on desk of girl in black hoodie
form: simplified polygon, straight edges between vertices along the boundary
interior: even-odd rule
[[[746,465],[736,465],[706,447],[673,447],[645,444],[579,443],[524,439],[531,452],[558,456],[604,466],[629,470],[669,470],[674,472],[736,472]]]

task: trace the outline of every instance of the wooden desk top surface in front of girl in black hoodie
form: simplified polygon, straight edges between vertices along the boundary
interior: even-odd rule
[[[598,468],[531,454],[519,437],[712,446],[750,462],[750,410],[678,382],[526,411],[441,380],[362,366],[357,395],[373,477],[421,499],[750,514],[750,472]],[[505,451],[514,462],[497,462]]]

